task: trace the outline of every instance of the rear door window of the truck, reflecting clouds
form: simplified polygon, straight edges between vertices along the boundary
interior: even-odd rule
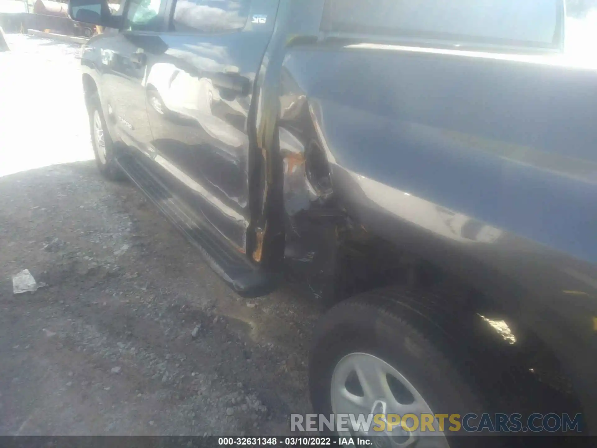
[[[245,27],[250,0],[177,0],[171,30],[180,33],[222,33]]]

